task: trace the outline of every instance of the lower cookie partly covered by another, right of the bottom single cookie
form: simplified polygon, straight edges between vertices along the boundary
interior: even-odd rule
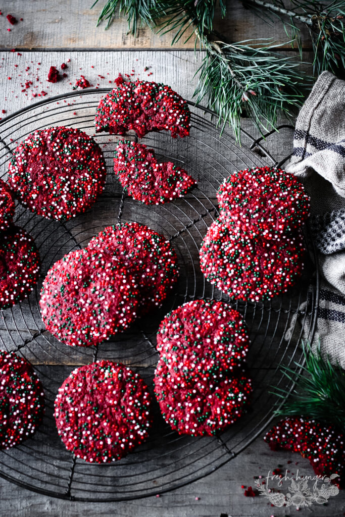
[[[210,382],[183,387],[171,376],[161,358],[155,372],[155,394],[164,420],[179,434],[217,435],[242,416],[251,392],[241,370],[233,377],[220,375]]]

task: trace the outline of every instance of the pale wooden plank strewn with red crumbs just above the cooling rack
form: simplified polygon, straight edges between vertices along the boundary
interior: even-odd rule
[[[0,70],[3,81],[2,91],[0,92],[0,107],[6,109],[6,115],[9,115],[30,103],[42,100],[43,97],[38,97],[42,90],[47,92],[49,96],[72,93],[72,87],[81,74],[94,87],[115,86],[114,80],[118,73],[130,74],[132,69],[134,69],[135,78],[140,75],[141,79],[148,79],[147,74],[152,72],[149,80],[170,84],[178,90],[179,94],[186,99],[190,99],[197,83],[197,79],[193,78],[193,75],[198,70],[202,57],[202,54],[198,53],[194,56],[194,53],[190,51],[37,51],[25,52],[22,55],[18,55],[17,52],[1,52]],[[68,59],[70,59],[70,62],[68,62]],[[59,68],[62,63],[68,65],[65,70],[68,77],[59,80],[57,83],[47,82],[50,66],[54,65]],[[146,66],[150,68],[145,72],[144,68]],[[27,70],[27,67],[30,68]],[[7,79],[8,77],[11,79]],[[39,81],[37,81],[37,77]],[[186,77],[189,78],[188,81],[186,81]],[[33,85],[22,92],[27,80],[32,81]],[[111,84],[109,81],[111,81]],[[37,94],[37,97],[33,97],[33,94]],[[44,99],[47,99],[47,97],[44,97]],[[71,105],[73,105],[73,101]]]

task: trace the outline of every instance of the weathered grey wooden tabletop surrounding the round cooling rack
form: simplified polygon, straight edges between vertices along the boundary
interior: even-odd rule
[[[52,0],[26,3],[4,0],[1,6],[3,16],[0,17],[0,109],[5,110],[6,115],[42,98],[38,96],[42,95],[42,90],[50,96],[70,92],[81,74],[94,86],[107,87],[119,72],[134,73],[134,77],[140,74],[142,79],[151,73],[150,80],[170,84],[183,97],[191,99],[196,84],[193,76],[203,57],[201,52],[194,54],[192,41],[171,48],[169,34],[158,37],[144,28],[134,39],[127,34],[127,25],[123,20],[115,21],[109,31],[104,32],[102,26],[96,28],[102,2],[93,10],[89,10],[90,5],[91,2],[85,3],[83,0],[74,0],[73,3],[68,0],[58,3]],[[23,21],[10,26],[5,18],[8,13],[18,20],[23,18]],[[11,28],[11,31],[8,32],[7,28]],[[226,20],[218,20],[217,28],[237,41],[264,37],[267,32],[277,42],[286,40],[279,23],[268,28],[239,2],[234,3]],[[304,45],[307,59],[307,37]],[[10,52],[11,49],[16,51]],[[284,52],[296,54],[289,45],[284,47]],[[64,62],[68,64],[68,77],[56,84],[48,83],[46,78],[50,66],[59,67]],[[144,72],[146,66],[149,70]],[[243,120],[242,126],[250,134],[257,134],[247,120]],[[291,152],[291,136],[290,130],[283,130],[267,142],[277,160]],[[269,470],[272,471],[279,464],[284,470],[290,458],[298,462],[300,472],[312,474],[308,461],[290,453],[272,453],[261,435],[238,457],[204,479],[160,497],[119,503],[86,504],[48,498],[0,478],[0,515],[297,515],[292,507],[273,508],[261,497],[244,497],[241,488],[241,485],[253,485],[254,476],[265,477]],[[297,466],[294,465],[294,468]],[[339,495],[327,506],[314,505],[311,510],[303,509],[299,513],[304,511],[314,517],[336,517],[343,515],[343,506],[344,497]]]

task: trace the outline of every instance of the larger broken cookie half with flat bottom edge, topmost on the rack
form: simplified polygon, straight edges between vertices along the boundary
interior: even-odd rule
[[[101,99],[95,118],[96,132],[126,134],[130,129],[142,137],[150,131],[170,131],[187,136],[190,111],[187,102],[170,86],[149,81],[118,81]]]

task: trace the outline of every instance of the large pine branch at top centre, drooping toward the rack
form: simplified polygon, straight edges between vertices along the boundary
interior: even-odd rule
[[[226,3],[218,3],[224,16]],[[184,39],[186,33],[184,42],[195,35],[196,45],[199,42],[206,52],[194,92],[197,102],[206,100],[219,124],[231,126],[236,140],[240,139],[241,116],[248,116],[263,134],[276,128],[279,113],[289,116],[293,107],[302,104],[311,78],[297,69],[297,63],[274,52],[279,47],[268,47],[268,40],[219,41],[213,27],[216,5],[217,0],[107,0],[99,20],[107,19],[109,25],[117,9],[134,33],[139,23],[146,23],[156,26],[159,33],[172,32],[172,43]]]

